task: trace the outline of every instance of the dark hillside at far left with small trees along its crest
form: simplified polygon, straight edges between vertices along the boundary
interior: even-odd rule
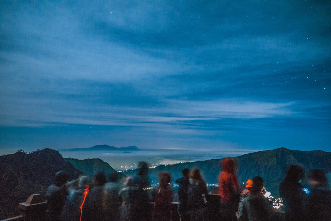
[[[59,152],[48,148],[0,156],[0,219],[18,215],[18,203],[25,202],[30,194],[45,193],[58,171],[67,173],[71,180],[82,174]]]

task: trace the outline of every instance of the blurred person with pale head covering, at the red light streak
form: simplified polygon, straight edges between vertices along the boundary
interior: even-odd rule
[[[76,189],[71,189],[69,195],[67,196],[66,203],[62,210],[61,221],[72,221],[80,220],[80,206],[84,201],[84,192],[89,188],[89,178],[87,176],[82,176],[77,179],[78,186]],[[74,183],[74,182],[72,182]],[[85,218],[85,207],[82,207],[82,221]]]

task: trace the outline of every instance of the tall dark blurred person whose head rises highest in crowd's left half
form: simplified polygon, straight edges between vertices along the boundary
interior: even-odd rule
[[[134,188],[130,191],[132,198],[132,221],[147,221],[150,220],[149,196],[146,188],[150,187],[148,177],[149,166],[146,162],[138,163],[138,175],[133,177]]]

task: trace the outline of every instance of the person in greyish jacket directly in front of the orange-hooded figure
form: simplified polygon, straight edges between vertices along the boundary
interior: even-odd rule
[[[272,203],[262,194],[263,179],[253,178],[253,187],[248,197],[241,203],[238,211],[238,221],[269,221],[273,213]]]

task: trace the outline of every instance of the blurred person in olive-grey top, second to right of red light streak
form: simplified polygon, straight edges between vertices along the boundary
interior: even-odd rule
[[[120,184],[118,182],[118,173],[112,172],[109,175],[109,182],[104,186],[104,195],[102,201],[102,208],[106,215],[107,221],[118,221],[119,219],[119,191]]]

